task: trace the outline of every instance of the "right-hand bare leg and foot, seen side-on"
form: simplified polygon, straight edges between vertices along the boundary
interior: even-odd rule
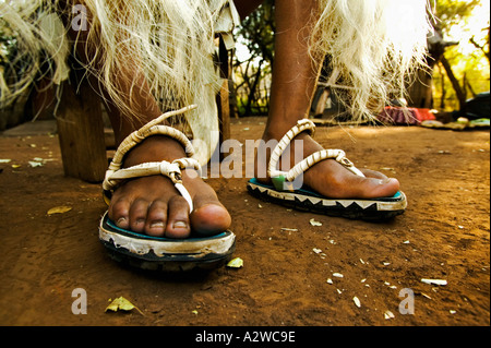
[[[275,65],[270,117],[263,134],[265,142],[279,141],[298,120],[308,115],[322,62],[309,52],[312,21],[316,10],[315,0],[276,1]],[[296,140],[303,141],[303,157],[322,149],[322,146],[306,133],[299,134]],[[261,153],[260,151],[259,154]],[[264,158],[258,159],[258,166],[265,166],[266,163]],[[306,171],[303,183],[322,195],[338,199],[392,196],[399,189],[396,179],[371,170],[364,170],[364,175],[366,177],[356,176],[337,161],[328,159]]]

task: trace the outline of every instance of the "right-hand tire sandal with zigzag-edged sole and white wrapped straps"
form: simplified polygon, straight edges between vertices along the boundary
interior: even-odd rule
[[[335,159],[352,173],[364,177],[355,165],[346,158],[342,149],[319,151],[297,165],[289,171],[277,169],[279,157],[294,140],[302,132],[310,132],[312,135],[315,124],[308,119],[298,121],[276,145],[270,158],[267,168],[268,177],[273,184],[264,184],[253,178],[248,182],[249,192],[262,200],[277,203],[284,206],[294,207],[300,211],[308,211],[328,216],[340,216],[364,220],[386,220],[403,214],[407,207],[406,195],[397,192],[391,197],[380,199],[331,199],[323,196],[308,188],[296,188],[295,180],[313,165],[325,159]]]

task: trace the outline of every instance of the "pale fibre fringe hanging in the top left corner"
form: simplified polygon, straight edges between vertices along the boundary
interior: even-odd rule
[[[33,82],[48,71],[52,71],[50,79],[55,84],[68,77],[70,46],[61,22],[53,20],[52,7],[43,0],[0,2],[3,35],[16,40],[13,57],[0,52],[5,55],[0,56],[5,67],[0,65],[0,108],[28,92]]]

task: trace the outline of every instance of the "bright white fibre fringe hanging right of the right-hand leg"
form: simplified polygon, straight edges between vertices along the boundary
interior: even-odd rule
[[[319,0],[310,50],[331,59],[327,84],[356,120],[404,97],[414,70],[426,67],[427,1]]]

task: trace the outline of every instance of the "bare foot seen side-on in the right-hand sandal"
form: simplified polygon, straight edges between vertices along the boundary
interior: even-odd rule
[[[267,134],[267,132],[265,133]],[[263,141],[275,139],[279,140],[280,136],[268,136],[264,135]],[[290,164],[287,167],[283,167],[282,170],[288,170],[295,165],[295,141],[301,140],[303,144],[303,156],[307,156],[323,149],[323,147],[316,143],[309,134],[306,132],[297,135],[290,146],[285,149],[285,153],[290,153]],[[264,145],[262,143],[262,145]],[[263,170],[264,166],[267,166],[270,155],[266,154],[266,158],[260,158],[264,151],[258,151],[256,158],[256,175],[259,172],[266,172]],[[284,163],[280,163],[284,166]],[[399,182],[397,179],[387,178],[381,172],[373,170],[361,170],[366,178],[359,177],[343,165],[334,159],[322,160],[311,167],[303,173],[303,184],[311,188],[313,191],[332,199],[376,199],[393,196],[399,190]],[[258,177],[256,179],[261,182],[270,182],[267,177]]]

